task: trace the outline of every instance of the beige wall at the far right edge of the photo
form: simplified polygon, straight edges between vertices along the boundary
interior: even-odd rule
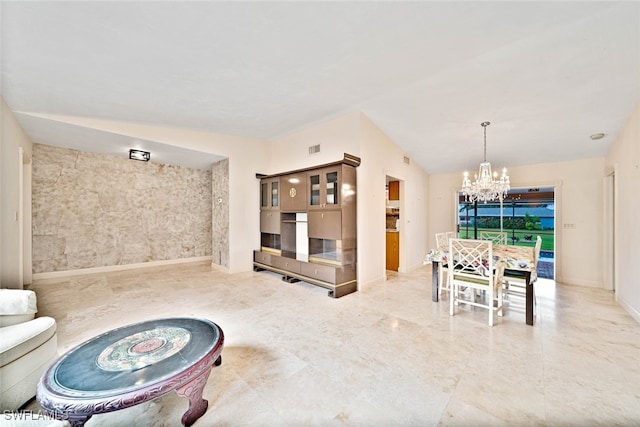
[[[640,321],[640,101],[609,149],[606,170],[616,187],[616,298]]]

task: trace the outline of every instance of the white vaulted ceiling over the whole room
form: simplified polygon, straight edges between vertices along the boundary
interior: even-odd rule
[[[603,156],[640,99],[638,2],[0,4],[2,96],[34,142],[86,151],[211,161],[46,115],[274,139],[359,110],[456,172],[483,121],[494,167]]]

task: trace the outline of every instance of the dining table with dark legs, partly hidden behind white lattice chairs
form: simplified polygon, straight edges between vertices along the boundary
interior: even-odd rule
[[[438,302],[440,286],[439,268],[440,264],[447,261],[447,250],[432,249],[425,257],[424,264],[431,264],[431,300]],[[535,250],[529,246],[493,245],[494,263],[502,263],[505,275],[510,272],[521,275],[526,283],[525,286],[525,323],[533,325],[533,284],[537,279]]]

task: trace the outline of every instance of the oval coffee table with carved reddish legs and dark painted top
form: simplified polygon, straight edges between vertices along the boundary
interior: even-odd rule
[[[42,376],[36,398],[51,417],[83,426],[91,416],[125,409],[173,390],[189,399],[182,424],[208,407],[202,391],[222,363],[224,334],[198,318],[157,319],[114,329],[62,356]]]

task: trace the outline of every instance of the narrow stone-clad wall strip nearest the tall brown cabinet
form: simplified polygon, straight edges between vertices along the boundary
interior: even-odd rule
[[[213,175],[212,263],[229,268],[229,159],[211,167]]]

